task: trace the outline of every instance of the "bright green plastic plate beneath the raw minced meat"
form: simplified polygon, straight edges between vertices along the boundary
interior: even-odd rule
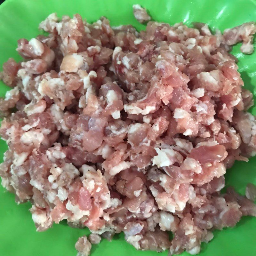
[[[149,10],[154,20],[174,24],[183,21],[205,22],[212,29],[234,27],[256,20],[255,0],[6,0],[0,5],[0,66],[13,57],[20,60],[15,51],[21,37],[36,36],[38,24],[52,12],[58,16],[80,13],[87,21],[96,21],[106,16],[113,26],[139,24],[132,14],[132,4],[141,4]],[[236,45],[233,53],[239,59],[239,69],[245,87],[256,95],[256,52],[243,55]],[[8,87],[0,82],[0,95],[4,96]],[[256,114],[256,107],[251,109]],[[6,150],[0,141],[0,161]],[[256,184],[256,158],[248,163],[237,162],[226,174],[227,185],[232,185],[244,194],[246,184]],[[0,255],[1,256],[75,256],[75,242],[79,236],[88,235],[87,229],[73,229],[67,224],[53,225],[49,230],[37,233],[31,214],[30,204],[16,205],[14,195],[0,186]],[[92,245],[92,256],[156,256],[157,252],[136,251],[124,241],[122,234],[112,242],[101,241]],[[163,252],[162,255],[167,255]],[[187,253],[183,253],[188,255]],[[255,256],[256,218],[244,217],[235,228],[214,232],[209,244],[202,244],[200,256]]]

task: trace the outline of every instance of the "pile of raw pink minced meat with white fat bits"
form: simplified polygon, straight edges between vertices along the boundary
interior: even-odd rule
[[[139,250],[197,254],[212,230],[256,216],[254,185],[220,194],[226,169],[256,154],[252,93],[229,53],[237,42],[253,52],[253,22],[212,34],[149,21],[139,33],[53,13],[39,28],[49,36],[20,39],[24,60],[0,74],[12,87],[0,101],[2,185],[32,203],[38,231],[88,227],[84,256],[122,231]]]

